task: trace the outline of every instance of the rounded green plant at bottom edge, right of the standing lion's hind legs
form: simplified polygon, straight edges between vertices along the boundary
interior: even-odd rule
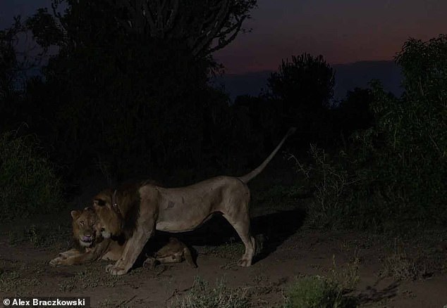
[[[298,278],[288,289],[284,308],[344,308],[356,307],[343,296],[341,285],[321,276]]]

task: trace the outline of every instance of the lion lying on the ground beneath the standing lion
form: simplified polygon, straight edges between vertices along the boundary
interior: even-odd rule
[[[110,211],[114,213],[114,211]],[[104,212],[102,214],[105,217]],[[116,261],[121,257],[125,241],[121,238],[104,238],[102,236],[97,212],[86,207],[81,211],[72,211],[73,240],[75,248],[61,252],[58,257],[52,259],[49,264],[54,267],[60,265],[74,265],[91,262],[97,259]],[[186,260],[191,267],[197,267],[192,259],[189,248],[177,238],[169,238],[169,243],[157,251],[154,257],[145,261],[149,267],[155,267],[158,263],[180,263]]]

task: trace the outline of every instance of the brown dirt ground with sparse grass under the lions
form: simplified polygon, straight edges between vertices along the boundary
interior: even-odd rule
[[[74,200],[72,209],[99,191],[88,187],[91,191]],[[176,235],[192,247],[197,269],[182,262],[135,267],[124,276],[106,274],[109,263],[104,261],[56,268],[48,264],[70,247],[70,209],[56,217],[3,224],[0,297],[87,296],[92,307],[171,307],[200,277],[211,286],[224,281],[228,288],[242,290],[252,307],[281,307],[297,278],[319,275],[350,285],[347,295],[360,307],[447,307],[447,230],[387,238],[315,231],[303,226],[303,210],[275,208],[252,205],[252,232],[262,243],[252,267],[236,265],[243,245],[217,216],[197,231]],[[158,239],[167,236],[156,234]]]

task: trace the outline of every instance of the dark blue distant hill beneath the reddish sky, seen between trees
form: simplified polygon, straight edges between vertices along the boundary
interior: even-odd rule
[[[391,91],[396,96],[402,94],[400,82],[402,75],[400,68],[393,61],[362,61],[350,64],[332,65],[336,71],[336,85],[334,98],[341,99],[346,92],[355,87],[365,88],[371,79],[379,79],[384,84],[384,89]],[[267,78],[271,71],[249,72],[245,74],[228,74],[216,77],[212,82],[215,86],[224,86],[230,95],[231,101],[236,96],[257,96],[267,86]]]

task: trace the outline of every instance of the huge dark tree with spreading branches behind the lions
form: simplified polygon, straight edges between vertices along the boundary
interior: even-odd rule
[[[54,0],[52,15],[37,11],[27,26],[42,47],[59,47],[27,92],[54,106],[41,124],[54,124],[48,143],[75,171],[94,160],[121,174],[197,165],[212,52],[255,3]]]

